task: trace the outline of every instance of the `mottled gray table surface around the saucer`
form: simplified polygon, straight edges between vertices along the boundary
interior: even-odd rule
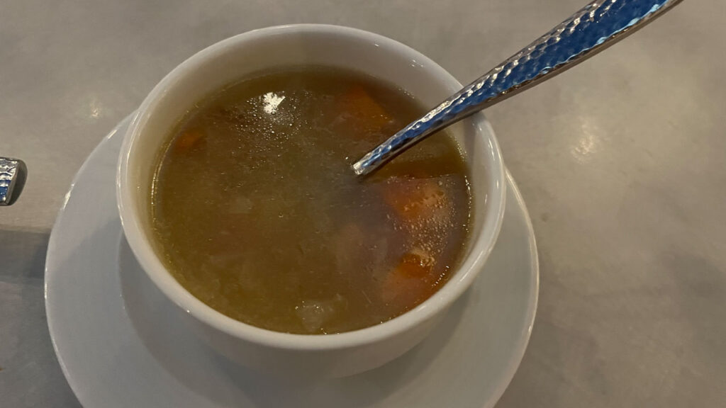
[[[44,256],[99,140],[193,52],[245,30],[372,30],[471,81],[583,0],[0,0],[0,406],[78,407]],[[726,2],[684,1],[487,115],[539,243],[537,321],[497,407],[726,407]]]

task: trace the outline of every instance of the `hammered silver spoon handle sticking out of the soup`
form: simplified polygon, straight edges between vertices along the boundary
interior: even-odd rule
[[[596,0],[462,88],[354,163],[358,176],[446,126],[587,60],[663,15],[681,0]]]

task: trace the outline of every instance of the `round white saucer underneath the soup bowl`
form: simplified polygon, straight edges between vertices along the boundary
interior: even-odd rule
[[[123,239],[115,168],[129,118],[89,156],[46,258],[46,313],[84,407],[492,407],[524,354],[537,308],[534,233],[507,174],[492,256],[431,337],[354,377],[290,383],[227,361],[187,332]]]

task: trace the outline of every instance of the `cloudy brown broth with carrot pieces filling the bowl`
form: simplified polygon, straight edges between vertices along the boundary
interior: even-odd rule
[[[327,334],[399,316],[462,260],[468,170],[445,134],[367,179],[351,164],[424,112],[388,83],[333,68],[227,86],[158,155],[156,250],[189,293],[257,327]]]

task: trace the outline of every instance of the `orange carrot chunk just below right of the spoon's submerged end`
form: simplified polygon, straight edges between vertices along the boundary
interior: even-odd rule
[[[401,220],[431,219],[449,214],[450,201],[434,179],[389,179],[383,197]]]

